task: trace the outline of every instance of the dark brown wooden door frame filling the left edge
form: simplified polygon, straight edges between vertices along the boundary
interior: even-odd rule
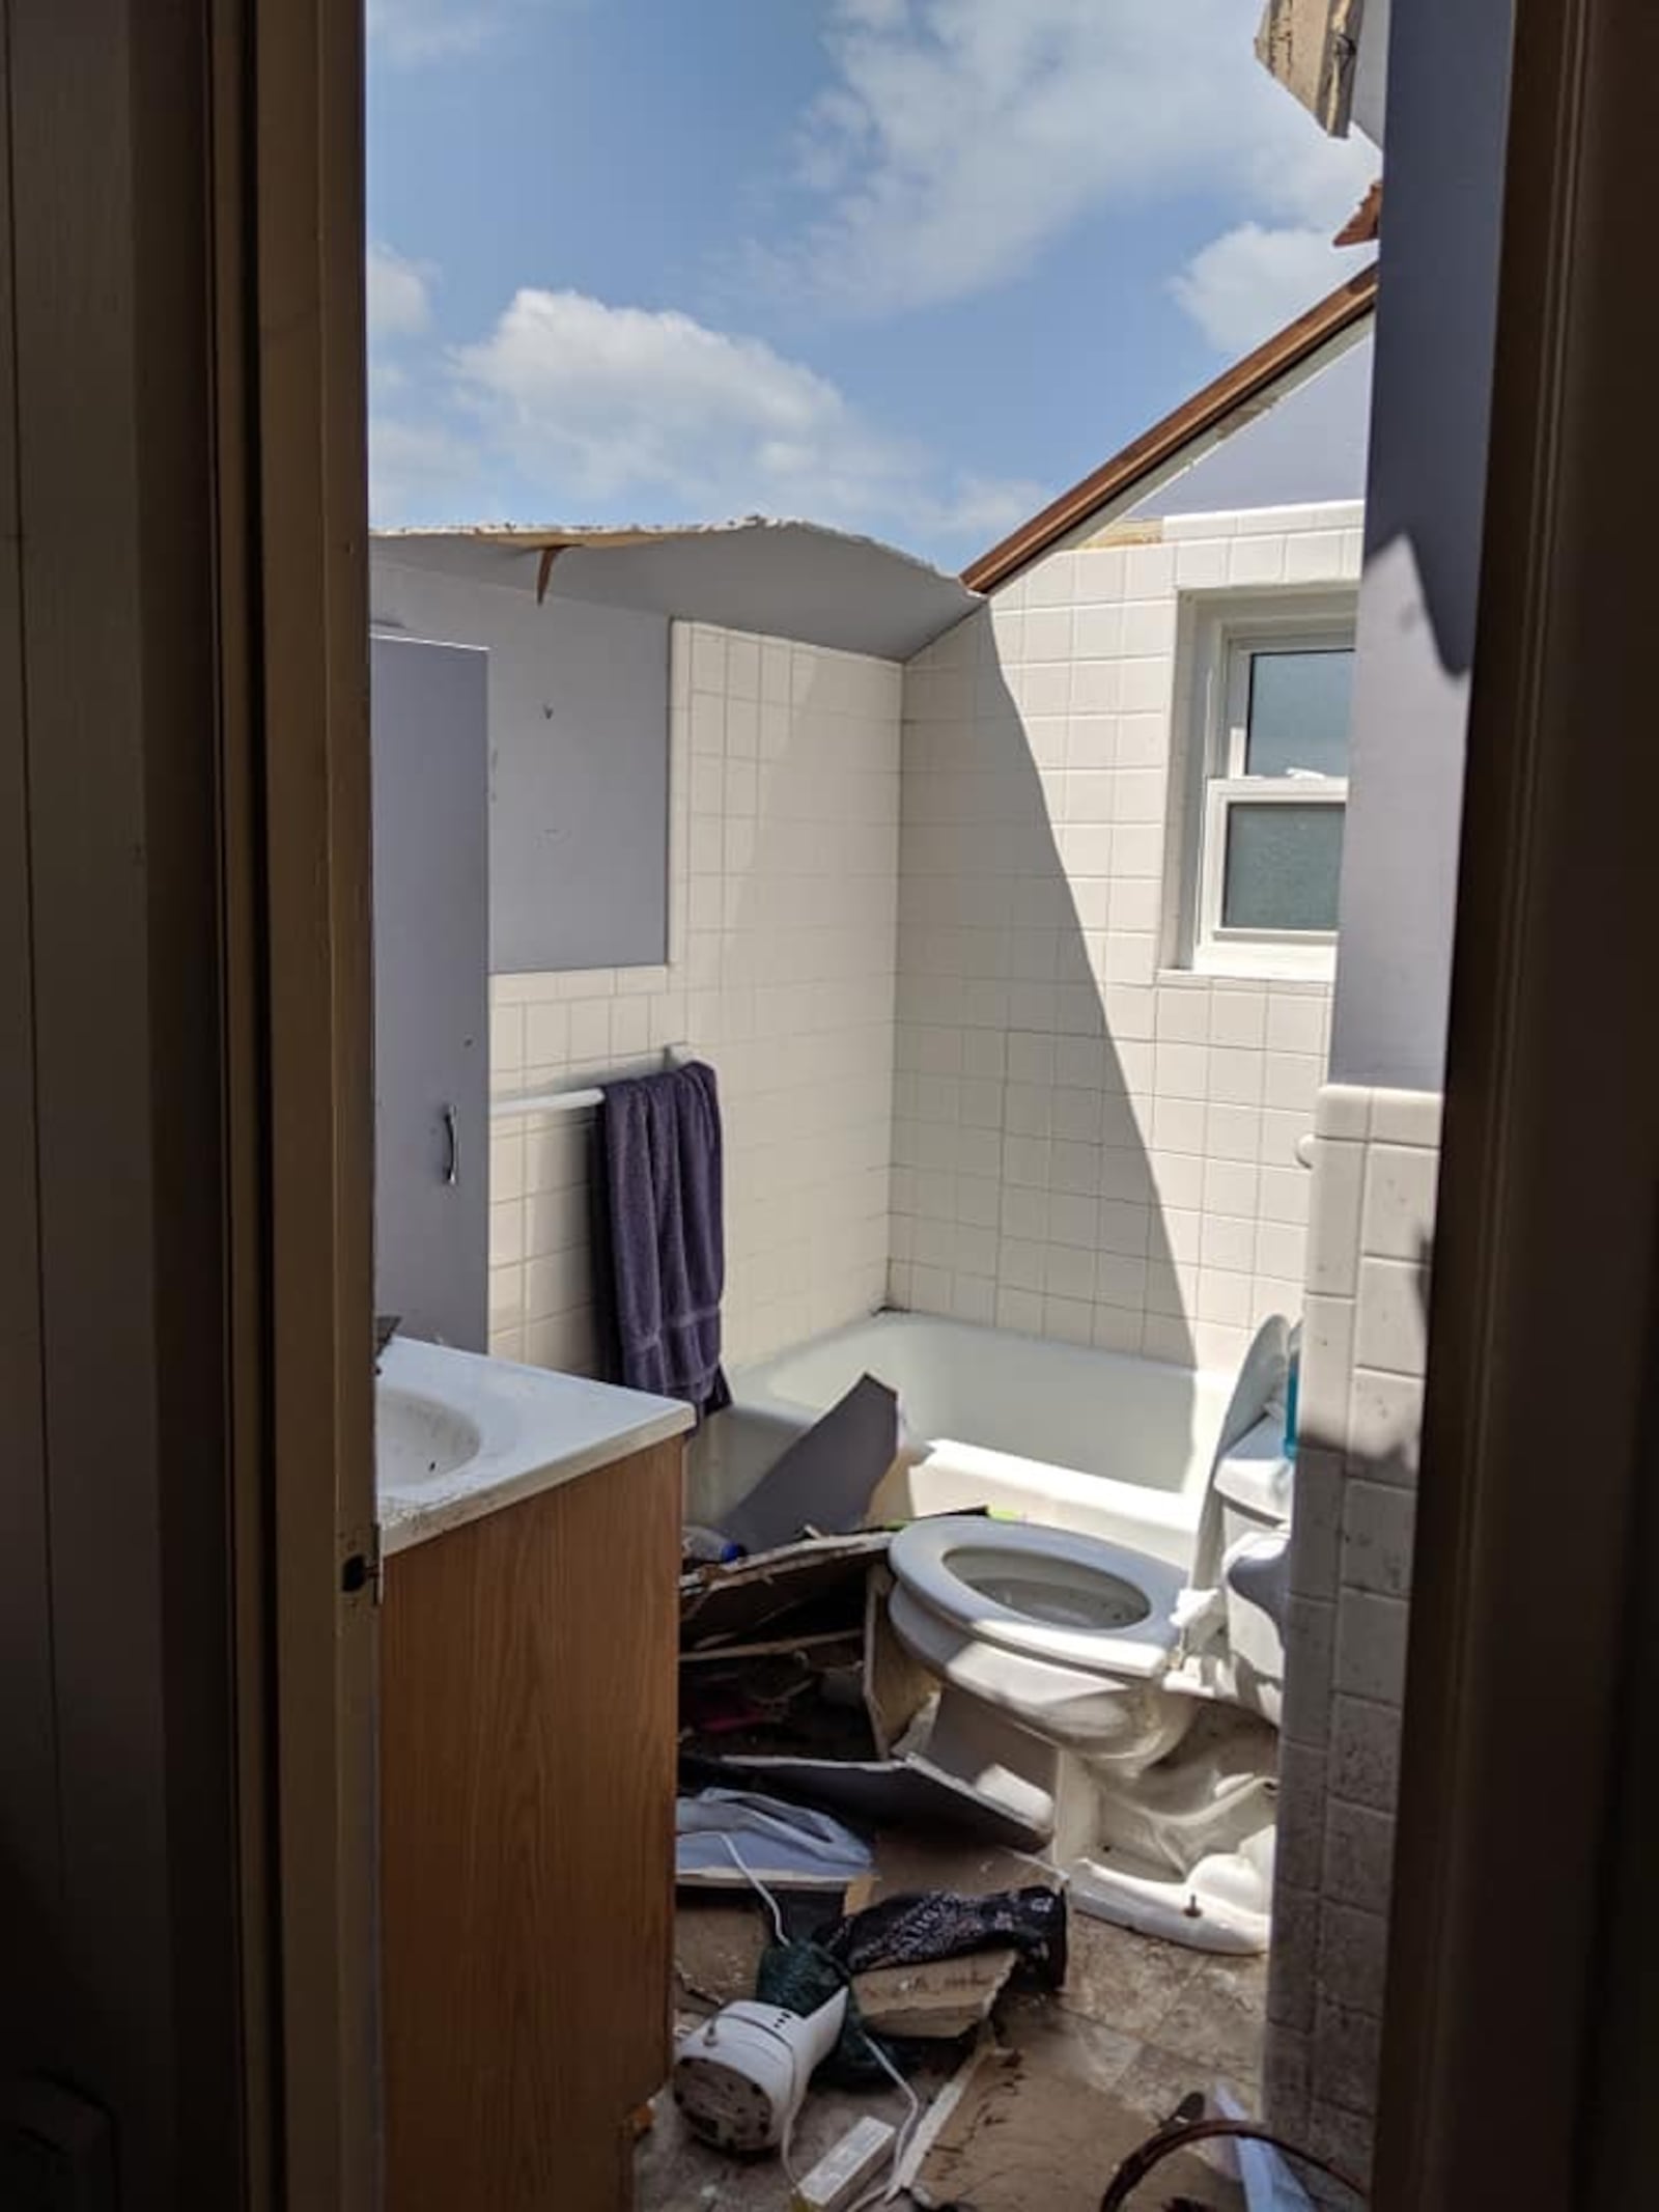
[[[361,46],[0,0],[0,2088],[131,2205],[376,2203]]]

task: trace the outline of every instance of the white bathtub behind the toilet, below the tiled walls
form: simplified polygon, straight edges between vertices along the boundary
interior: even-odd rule
[[[995,1506],[1188,1566],[1230,1374],[876,1314],[732,1374],[692,1451],[692,1520],[717,1524],[858,1376],[898,1391],[914,1462],[880,1506]]]

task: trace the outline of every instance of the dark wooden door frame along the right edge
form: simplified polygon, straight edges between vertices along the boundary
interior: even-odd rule
[[[1630,1601],[1652,1577],[1637,1533],[1652,1526],[1659,1343],[1655,82],[1646,0],[1515,0],[1383,2035],[1387,2212],[1639,2197],[1593,2174],[1635,2124],[1604,2095],[1619,2051],[1597,2053],[1635,1927],[1613,1940],[1601,1876],[1639,1783],[1619,1723]]]

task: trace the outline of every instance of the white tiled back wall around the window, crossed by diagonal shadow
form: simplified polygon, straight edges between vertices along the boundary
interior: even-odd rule
[[[1352,584],[1360,509],[1046,555],[905,670],[896,1305],[1199,1365],[1301,1303],[1329,987],[1159,967],[1181,597]]]

